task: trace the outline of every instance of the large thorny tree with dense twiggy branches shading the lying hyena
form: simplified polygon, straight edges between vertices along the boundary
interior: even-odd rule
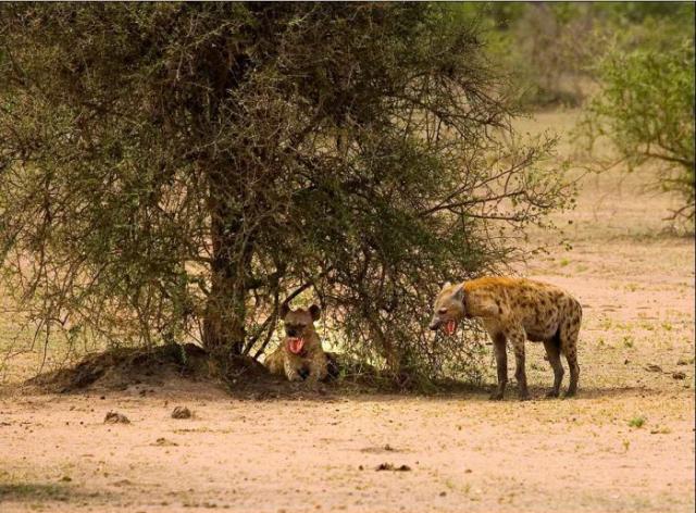
[[[509,132],[510,84],[467,20],[2,4],[7,286],[47,341],[251,355],[279,302],[312,291],[344,349],[442,372],[445,346],[424,356],[438,284],[497,267],[569,193],[545,164],[555,141]]]

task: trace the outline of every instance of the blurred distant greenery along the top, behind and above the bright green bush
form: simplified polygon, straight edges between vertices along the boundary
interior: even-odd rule
[[[693,2],[459,4],[485,30],[488,54],[514,75],[522,104],[577,107],[607,48],[668,50],[693,39]]]

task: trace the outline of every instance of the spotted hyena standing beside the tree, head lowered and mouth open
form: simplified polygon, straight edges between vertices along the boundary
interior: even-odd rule
[[[558,397],[563,379],[562,352],[570,367],[566,397],[577,390],[577,334],[582,320],[577,300],[552,285],[522,278],[485,277],[445,285],[435,300],[431,329],[444,327],[447,335],[457,329],[462,317],[480,317],[493,339],[498,367],[498,388],[490,399],[502,399],[508,381],[506,342],[514,350],[514,377],[520,399],[529,399],[524,372],[524,341],[544,342],[554,368],[554,388],[547,397]]]

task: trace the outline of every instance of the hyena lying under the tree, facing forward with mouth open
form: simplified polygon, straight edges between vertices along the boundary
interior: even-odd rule
[[[290,310],[283,304],[281,316],[286,337],[265,360],[271,374],[285,375],[290,381],[307,379],[310,384],[324,379],[328,361],[314,330],[314,321],[321,316],[321,309],[312,304],[308,310]]]

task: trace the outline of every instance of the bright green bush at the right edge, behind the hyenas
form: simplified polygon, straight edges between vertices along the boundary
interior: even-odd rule
[[[694,217],[694,40],[670,50],[614,49],[599,62],[600,90],[584,134],[607,137],[629,168],[652,162],[659,187],[682,195]]]

